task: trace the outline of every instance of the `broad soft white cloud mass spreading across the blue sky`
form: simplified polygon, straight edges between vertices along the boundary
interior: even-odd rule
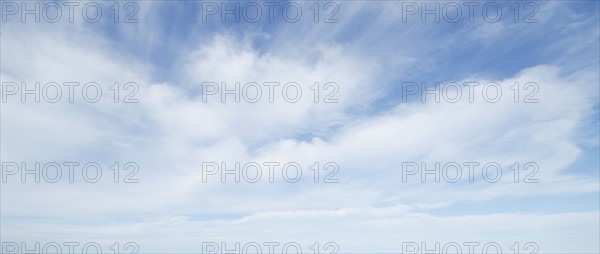
[[[14,38],[3,40],[3,81],[136,81],[140,103],[5,103],[3,160],[102,155],[97,160],[106,164],[138,162],[140,183],[3,184],[2,235],[8,240],[111,243],[118,238],[153,252],[232,240],[304,246],[326,240],[343,252],[398,251],[403,241],[495,241],[507,247],[532,241],[541,252],[598,251],[597,211],[432,212],[465,201],[597,193],[596,179],[565,171],[581,154],[581,129],[598,100],[588,92],[597,89],[595,70],[565,75],[562,67],[540,65],[496,80],[503,92],[514,82],[536,82],[540,102],[535,104],[514,103],[506,93],[498,103],[482,98],[398,103],[365,116],[365,104],[397,84],[377,84],[384,68],[371,64],[390,56],[369,59],[356,52],[360,43],[324,39],[303,44],[299,48],[310,50],[297,57],[287,52],[289,44],[259,52],[254,38],[217,33],[181,59],[182,84],[153,82],[145,64],[111,53],[104,47],[110,43],[97,34],[73,40],[62,31],[25,31],[3,30],[3,36]],[[35,43],[42,39],[43,44]],[[313,82],[334,81],[340,102],[222,104],[210,98],[203,103],[198,86],[206,81],[294,81],[306,92]],[[490,82],[480,76],[465,81]],[[306,167],[333,161],[340,166],[340,182],[290,184],[277,177],[274,184],[221,184],[216,176],[203,183],[206,161],[297,161]],[[400,169],[407,161],[496,161],[503,168],[534,161],[540,183],[515,184],[510,177],[496,184],[481,179],[420,184],[417,178],[402,183]]]

